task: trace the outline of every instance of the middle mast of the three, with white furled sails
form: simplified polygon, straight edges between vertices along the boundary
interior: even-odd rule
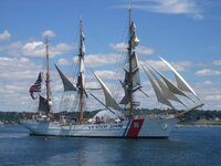
[[[83,124],[84,120],[84,93],[85,93],[85,68],[84,68],[84,35],[82,32],[82,19],[80,18],[80,53],[78,53],[78,76],[77,89],[80,95],[78,110],[80,110],[80,124]]]

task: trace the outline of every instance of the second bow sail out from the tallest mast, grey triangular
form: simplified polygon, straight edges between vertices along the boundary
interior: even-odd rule
[[[158,85],[160,86],[161,89],[161,92],[164,94],[164,96],[167,98],[167,100],[172,100],[172,101],[176,101],[182,105],[185,105],[185,103],[182,103],[158,77],[157,75],[155,75],[155,73],[149,69],[150,73],[152,74],[152,76],[155,77],[155,80],[157,81]],[[186,105],[185,105],[186,106]]]

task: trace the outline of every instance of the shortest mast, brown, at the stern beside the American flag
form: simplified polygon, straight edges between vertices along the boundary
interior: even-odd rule
[[[46,80],[45,80],[45,85],[46,85],[46,104],[49,106],[48,110],[48,115],[51,112],[51,89],[50,89],[50,71],[49,71],[49,40],[48,37],[45,39],[45,44],[46,44]]]

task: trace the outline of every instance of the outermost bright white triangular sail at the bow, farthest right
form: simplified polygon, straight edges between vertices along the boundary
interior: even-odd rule
[[[160,58],[160,56],[159,56]],[[169,69],[172,71],[172,73],[175,74],[175,77],[177,80],[177,85],[180,90],[182,91],[187,91],[187,92],[190,92],[192,93],[196,97],[197,97],[197,94],[196,92],[192,90],[192,87],[185,81],[185,79],[173,69],[173,66],[171,66],[169,64],[169,62],[167,62],[165,59],[160,58],[160,60],[162,62],[165,62],[165,64],[167,64],[167,66],[169,66]]]

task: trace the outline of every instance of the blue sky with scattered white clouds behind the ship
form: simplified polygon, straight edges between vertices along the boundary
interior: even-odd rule
[[[165,66],[170,62],[194,89],[204,108],[221,110],[221,1],[131,0],[141,63]],[[70,72],[77,54],[78,18],[86,37],[85,62],[108,82],[127,41],[128,1],[124,0],[1,0],[0,1],[0,110],[30,111],[29,86],[43,69],[43,37],[50,35],[53,63]],[[167,71],[166,71],[167,73]],[[144,75],[144,73],[143,73]],[[171,76],[171,75],[170,75]],[[87,85],[96,86],[87,70]],[[53,80],[53,79],[52,79]],[[60,82],[54,89],[61,91]],[[157,104],[152,89],[145,107]],[[171,77],[172,80],[172,77]]]

